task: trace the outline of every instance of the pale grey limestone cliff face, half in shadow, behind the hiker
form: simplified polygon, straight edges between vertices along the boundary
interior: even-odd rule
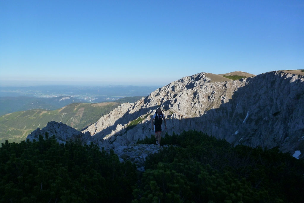
[[[154,134],[151,117],[160,107],[169,135],[195,129],[235,145],[304,151],[304,76],[272,71],[213,82],[210,75],[171,82],[136,103],[122,104],[82,132],[100,145],[133,143]]]

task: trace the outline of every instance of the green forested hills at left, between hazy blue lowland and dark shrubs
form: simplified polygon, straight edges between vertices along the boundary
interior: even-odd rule
[[[118,107],[121,103],[125,103],[125,102],[132,103],[139,100],[140,98],[142,98],[142,96],[121,98],[116,100],[116,102],[102,102],[102,103],[78,102],[78,103],[69,104],[59,109],[57,108],[57,110],[53,110],[53,111],[47,109],[41,109],[41,106],[38,106],[39,105],[38,102],[36,104],[33,104],[32,107],[38,106],[39,109],[18,111],[0,116],[0,143],[5,142],[5,140],[9,140],[9,142],[20,142],[22,140],[25,140],[26,136],[30,132],[35,130],[37,127],[39,128],[45,127],[47,123],[50,121],[63,122],[64,124],[67,124],[77,130],[81,130],[86,126],[97,122],[100,117],[108,114],[111,110]],[[25,101],[28,101],[26,99],[30,99],[30,98],[24,98]],[[54,98],[46,98],[46,99],[54,99]],[[57,98],[57,101],[58,100],[60,99]],[[68,99],[64,99],[61,101],[65,101],[65,100]],[[16,99],[16,103],[17,101],[18,100]],[[49,107],[49,106],[44,105],[43,107]],[[27,108],[31,108],[31,106],[28,105]],[[56,107],[52,106],[52,108],[56,108]]]

